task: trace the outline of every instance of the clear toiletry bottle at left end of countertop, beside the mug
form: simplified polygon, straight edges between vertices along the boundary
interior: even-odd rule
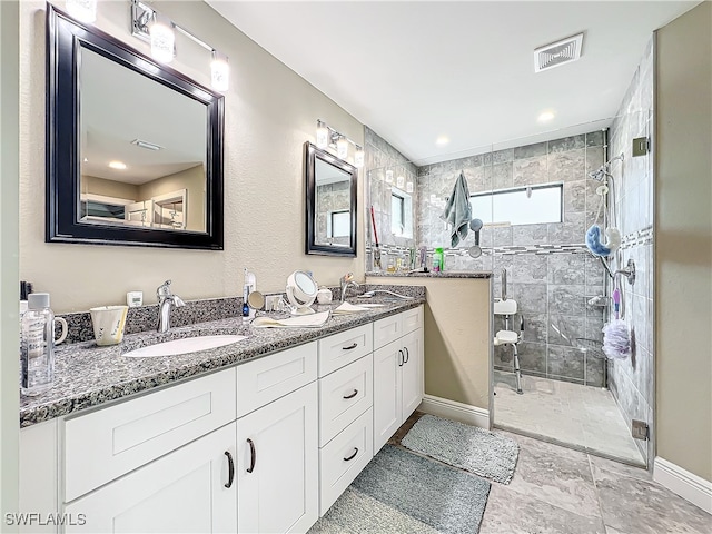
[[[55,314],[49,307],[49,293],[28,295],[28,310],[22,316],[20,365],[23,395],[39,395],[52,387]]]

